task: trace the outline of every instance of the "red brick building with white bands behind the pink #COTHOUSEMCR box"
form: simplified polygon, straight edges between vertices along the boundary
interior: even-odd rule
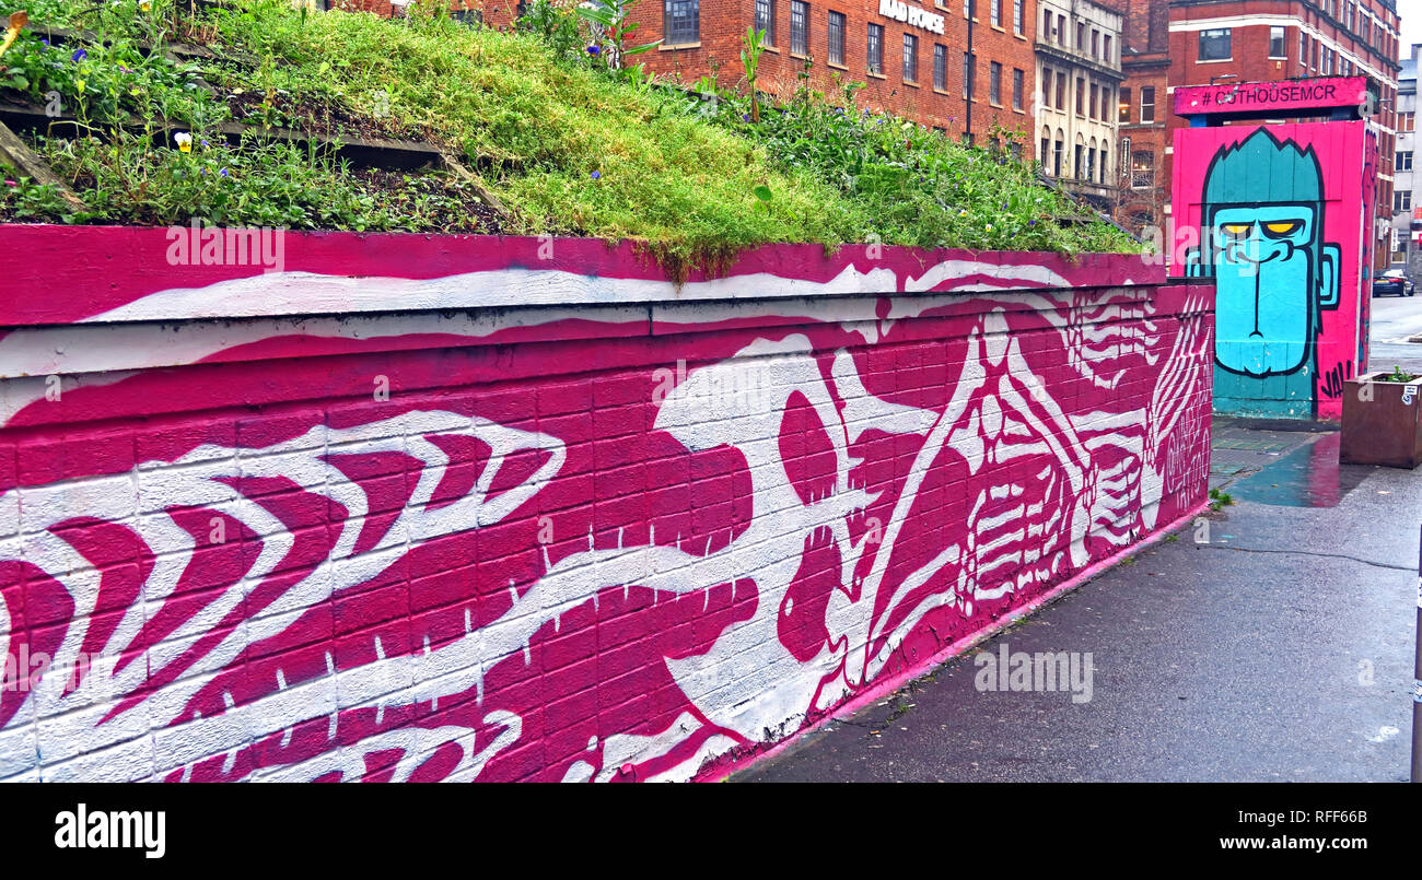
[[[1169,0],[1170,85],[1367,75],[1381,92],[1372,117],[1378,169],[1375,253],[1388,263],[1396,148],[1398,9],[1395,0]],[[1159,108],[1158,114],[1162,112]],[[1167,114],[1167,131],[1187,122]],[[1169,141],[1167,141],[1169,142]],[[1170,162],[1165,163],[1170,185]]]

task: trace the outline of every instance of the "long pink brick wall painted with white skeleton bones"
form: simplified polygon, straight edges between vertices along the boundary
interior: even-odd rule
[[[1136,259],[166,246],[0,227],[0,779],[715,778],[1204,500]]]

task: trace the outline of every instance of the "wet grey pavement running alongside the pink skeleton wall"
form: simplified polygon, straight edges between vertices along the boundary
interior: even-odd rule
[[[1405,780],[1422,471],[1216,419],[1234,505],[738,780]],[[1204,535],[1199,535],[1206,537]],[[1089,702],[980,692],[978,651],[1091,653]]]

